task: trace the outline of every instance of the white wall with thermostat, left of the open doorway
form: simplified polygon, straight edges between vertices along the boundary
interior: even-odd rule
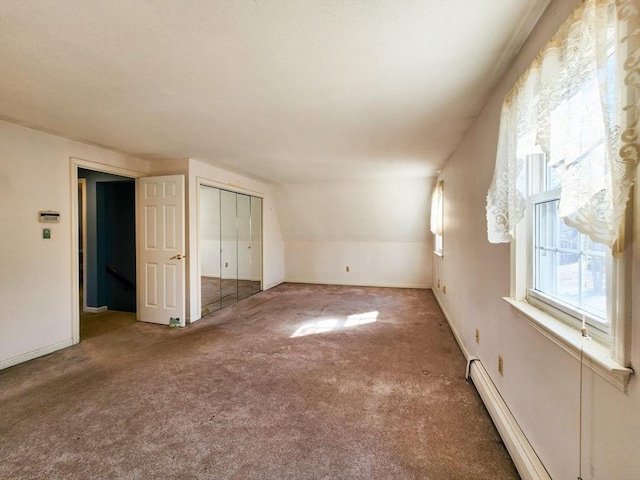
[[[73,342],[71,157],[146,170],[140,160],[0,122],[0,368]],[[60,223],[46,225],[50,240],[40,210],[60,212]]]

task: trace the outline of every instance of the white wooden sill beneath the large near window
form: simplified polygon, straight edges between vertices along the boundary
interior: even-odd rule
[[[620,391],[626,393],[633,374],[631,368],[620,365],[611,358],[611,350],[591,339],[583,339],[575,328],[555,319],[551,315],[527,302],[503,297],[525,320],[556,345],[580,360],[581,349],[583,363]],[[584,341],[584,343],[583,343]]]

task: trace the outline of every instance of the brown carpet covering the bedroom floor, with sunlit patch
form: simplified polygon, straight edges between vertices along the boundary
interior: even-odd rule
[[[0,372],[0,478],[517,479],[429,290],[283,284]]]

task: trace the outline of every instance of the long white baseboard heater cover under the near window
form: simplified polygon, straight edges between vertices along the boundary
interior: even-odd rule
[[[476,390],[478,390],[522,479],[551,480],[549,473],[509,411],[482,362],[475,357],[469,358],[467,376],[471,377]]]

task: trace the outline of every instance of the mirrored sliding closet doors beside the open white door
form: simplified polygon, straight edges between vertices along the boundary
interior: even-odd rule
[[[202,314],[262,290],[262,199],[200,185]]]

